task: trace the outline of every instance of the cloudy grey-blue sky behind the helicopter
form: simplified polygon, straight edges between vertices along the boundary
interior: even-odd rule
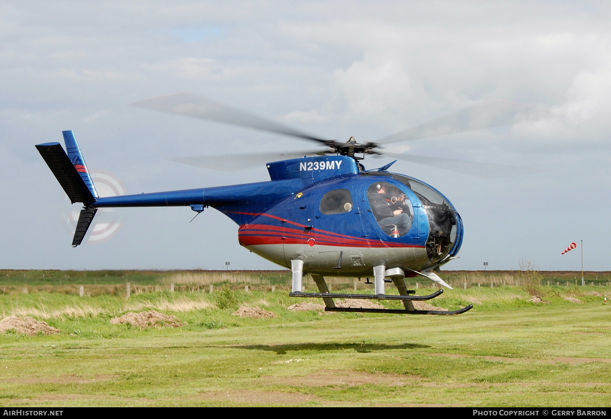
[[[587,271],[607,261],[611,5],[599,1],[0,3],[0,268],[276,269],[208,209],[122,208],[72,248],[70,206],[34,148],[72,129],[100,185],[126,193],[269,180],[169,158],[310,144],[129,106],[192,92],[322,137],[376,140],[486,101],[538,117],[392,151],[534,167],[483,179],[399,161],[463,218],[444,269]],[[541,115],[544,115],[541,117]],[[367,169],[392,161],[365,159]],[[102,188],[102,186],[100,186]]]

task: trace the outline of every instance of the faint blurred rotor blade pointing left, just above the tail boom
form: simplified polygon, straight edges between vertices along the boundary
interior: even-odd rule
[[[177,163],[188,164],[189,166],[204,167],[205,169],[222,170],[223,172],[238,172],[251,167],[263,166],[266,163],[296,159],[304,156],[324,156],[327,153],[323,150],[306,151],[287,151],[286,153],[244,153],[213,156],[191,156],[169,158],[168,160]]]

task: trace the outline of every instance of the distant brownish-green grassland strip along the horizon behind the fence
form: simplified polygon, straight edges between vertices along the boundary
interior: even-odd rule
[[[560,271],[443,271],[442,278],[454,287],[467,288],[473,286],[524,285],[535,286],[573,286],[581,285],[581,272]],[[609,286],[611,272],[585,272],[587,285]],[[136,290],[148,287],[148,290],[166,290],[174,283],[181,290],[190,287],[191,290],[205,288],[210,284],[249,284],[290,286],[291,273],[282,271],[59,271],[59,270],[13,270],[0,269],[0,291],[10,293],[22,292],[26,286],[29,292],[55,291],[78,293],[81,285],[87,287],[89,295],[122,294],[125,293],[125,283],[130,282]],[[368,288],[366,279],[329,277],[327,283],[345,286],[354,285],[358,288]],[[412,288],[431,286],[430,280],[423,277],[406,278]],[[308,275],[305,285],[314,285]],[[57,286],[64,287],[61,291]],[[138,292],[138,291],[136,291]]]

